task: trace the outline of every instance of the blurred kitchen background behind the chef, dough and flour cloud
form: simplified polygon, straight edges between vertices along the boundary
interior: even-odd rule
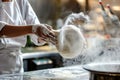
[[[88,14],[92,10],[98,13],[101,11],[98,0],[29,1],[40,22],[52,25],[54,29],[60,29],[64,24],[67,16],[71,13],[84,12],[85,14]],[[103,0],[102,2],[104,3],[103,5],[105,8],[106,4],[109,3],[113,12],[118,16],[118,18],[120,18],[120,0]],[[100,19],[98,18],[98,20]],[[53,45],[46,43],[43,46],[36,46],[31,42],[29,36],[27,39],[28,41],[26,47],[22,49],[22,52],[25,53],[23,54],[25,71],[66,66],[64,63],[67,61],[58,54],[56,48]],[[69,63],[72,65],[75,60],[76,59],[71,60],[71,62],[69,60]],[[79,60],[78,63],[80,63]]]

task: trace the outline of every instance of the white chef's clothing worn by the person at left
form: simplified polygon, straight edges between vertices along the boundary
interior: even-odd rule
[[[4,27],[1,22],[13,25],[40,24],[28,0],[0,0],[0,30]],[[37,36],[31,36],[37,44]],[[26,36],[0,38],[0,74],[19,73],[23,71],[20,48],[25,46]]]

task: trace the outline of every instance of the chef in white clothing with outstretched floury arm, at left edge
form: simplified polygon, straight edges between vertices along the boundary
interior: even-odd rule
[[[38,45],[40,40],[56,41],[51,26],[39,22],[28,0],[0,0],[0,74],[23,72],[20,49],[28,34]]]

